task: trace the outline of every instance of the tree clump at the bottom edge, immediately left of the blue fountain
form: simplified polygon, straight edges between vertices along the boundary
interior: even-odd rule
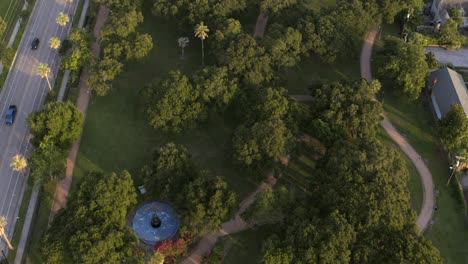
[[[138,239],[125,226],[136,203],[130,174],[92,173],[52,222],[42,243],[47,263],[143,263]]]

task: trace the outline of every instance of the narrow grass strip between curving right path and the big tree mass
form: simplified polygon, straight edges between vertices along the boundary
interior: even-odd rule
[[[423,203],[424,190],[421,182],[421,177],[419,176],[416,167],[381,126],[379,126],[377,138],[384,145],[395,149],[395,151],[400,153],[401,157],[405,160],[409,172],[408,191],[410,193],[411,208],[415,211],[416,215],[419,214]]]

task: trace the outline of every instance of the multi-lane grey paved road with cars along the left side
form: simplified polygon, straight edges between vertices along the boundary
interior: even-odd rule
[[[13,67],[8,74],[0,94],[0,215],[7,217],[6,232],[12,237],[19,206],[23,196],[28,172],[13,172],[10,168],[12,157],[17,154],[28,155],[29,132],[28,115],[38,110],[48,93],[46,80],[36,75],[39,63],[47,63],[52,69],[50,80],[58,70],[57,51],[48,47],[48,40],[53,37],[64,39],[71,23],[60,27],[55,18],[59,12],[74,14],[78,1],[40,0],[31,13],[28,25],[18,48]],[[34,37],[41,40],[37,50],[31,50],[30,43]],[[6,109],[14,104],[18,107],[16,121],[13,126],[3,122]],[[0,249],[6,251],[6,245],[0,242]]]

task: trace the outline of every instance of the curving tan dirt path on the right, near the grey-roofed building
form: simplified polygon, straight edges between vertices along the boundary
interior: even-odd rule
[[[371,56],[372,48],[374,46],[375,37],[378,33],[378,29],[374,29],[367,34],[364,41],[364,46],[361,52],[361,76],[362,78],[371,81]],[[385,131],[389,134],[392,140],[398,144],[401,150],[408,156],[413,162],[414,166],[418,170],[419,176],[423,183],[423,205],[419,212],[416,225],[418,226],[419,233],[422,234],[429,225],[434,212],[434,182],[432,175],[426,164],[424,163],[421,156],[414,150],[414,148],[408,143],[408,141],[396,130],[396,128],[390,123],[385,113],[383,114],[384,119],[380,123]]]

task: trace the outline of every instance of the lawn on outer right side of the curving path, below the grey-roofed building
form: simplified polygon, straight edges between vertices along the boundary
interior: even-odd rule
[[[382,98],[382,93],[380,94]],[[434,225],[424,235],[439,248],[445,263],[468,263],[468,227],[465,223],[463,204],[455,183],[446,186],[449,165],[445,153],[440,151],[435,135],[435,124],[428,102],[406,102],[384,90],[384,108],[395,127],[406,136],[409,143],[427,161],[434,180],[437,212]]]

